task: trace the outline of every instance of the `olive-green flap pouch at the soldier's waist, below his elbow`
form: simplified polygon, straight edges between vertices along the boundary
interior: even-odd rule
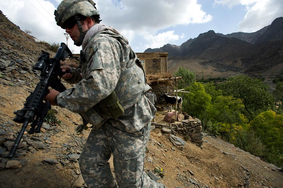
[[[120,115],[124,114],[125,109],[119,101],[115,91],[106,97],[104,101],[113,118],[118,118]]]

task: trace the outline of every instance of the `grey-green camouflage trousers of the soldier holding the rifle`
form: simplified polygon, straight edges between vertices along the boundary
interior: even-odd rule
[[[91,130],[79,159],[88,187],[164,188],[164,185],[151,180],[143,171],[151,124],[148,123],[140,131],[129,134],[115,128],[120,127],[117,125],[120,123],[109,119],[99,130]],[[94,154],[93,151],[100,152]],[[111,153],[116,181],[108,162]]]

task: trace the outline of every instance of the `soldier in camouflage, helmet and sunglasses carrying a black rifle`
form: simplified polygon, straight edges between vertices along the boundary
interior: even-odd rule
[[[63,0],[55,20],[83,50],[78,69],[61,67],[71,72],[62,78],[77,84],[62,93],[49,90],[45,100],[80,113],[93,125],[79,159],[85,183],[88,187],[166,187],[144,172],[156,108],[144,95],[149,86],[127,39],[99,23],[92,0]],[[111,154],[116,181],[108,163]]]

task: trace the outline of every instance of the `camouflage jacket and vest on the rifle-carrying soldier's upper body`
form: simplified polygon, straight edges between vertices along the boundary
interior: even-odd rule
[[[125,123],[125,127],[120,129],[128,132],[139,131],[150,122],[151,113],[155,114],[156,109],[141,95],[149,86],[144,83],[143,69],[136,65],[136,55],[130,59],[130,51],[126,40],[111,31],[103,31],[90,38],[83,50],[84,57],[81,58],[80,68],[72,69],[73,77],[66,80],[78,84],[60,93],[57,96],[57,104],[78,113],[94,109],[100,117],[93,116],[92,120],[101,121],[101,117],[110,118],[103,99],[115,90],[124,108],[128,109],[124,115],[116,118]],[[123,73],[126,73],[125,76],[121,76]],[[132,85],[125,85],[129,83]],[[136,105],[138,101],[139,106]],[[93,106],[95,107],[92,108]],[[131,113],[134,113],[135,118],[130,118],[128,113],[130,117]],[[101,123],[92,124],[99,127]]]

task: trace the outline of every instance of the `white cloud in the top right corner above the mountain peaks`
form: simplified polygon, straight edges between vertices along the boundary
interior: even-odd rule
[[[239,31],[256,32],[268,26],[274,19],[283,16],[282,0],[215,0],[214,5],[221,4],[228,8],[236,5],[245,6],[247,13],[238,24]]]

